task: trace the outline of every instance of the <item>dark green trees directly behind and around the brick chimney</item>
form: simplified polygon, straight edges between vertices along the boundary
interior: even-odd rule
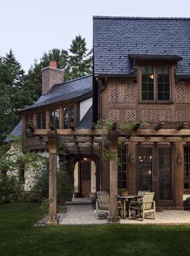
[[[92,51],[88,51],[86,48],[85,39],[82,39],[80,35],[76,36],[72,40],[69,50],[53,48],[49,52],[43,53],[39,63],[35,60],[34,65],[31,65],[26,83],[35,101],[41,95],[42,90],[41,69],[47,67],[52,60],[56,61],[58,69],[64,69],[64,81],[92,73]]]

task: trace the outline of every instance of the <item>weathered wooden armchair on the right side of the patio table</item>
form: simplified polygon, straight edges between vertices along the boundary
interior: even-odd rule
[[[139,213],[142,216],[142,220],[145,218],[145,214],[154,213],[155,219],[155,201],[154,199],[155,192],[144,192],[142,195],[141,201],[130,201],[129,204],[129,218],[131,212],[135,211],[135,214]]]

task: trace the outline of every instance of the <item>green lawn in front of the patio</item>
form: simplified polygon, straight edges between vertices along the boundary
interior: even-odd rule
[[[190,225],[35,227],[39,204],[0,204],[0,255],[190,255]]]

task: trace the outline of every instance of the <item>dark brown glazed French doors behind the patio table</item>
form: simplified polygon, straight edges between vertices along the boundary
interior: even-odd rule
[[[138,147],[138,190],[155,191],[157,206],[172,206],[173,178],[170,145]]]

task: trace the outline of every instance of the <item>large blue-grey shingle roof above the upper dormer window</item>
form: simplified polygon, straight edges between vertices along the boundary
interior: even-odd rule
[[[93,17],[95,75],[130,73],[131,54],[183,57],[177,75],[190,75],[190,19]]]

